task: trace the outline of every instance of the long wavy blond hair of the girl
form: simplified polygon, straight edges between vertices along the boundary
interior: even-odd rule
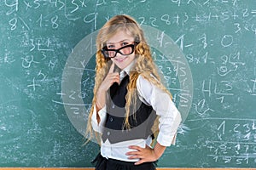
[[[172,94],[166,89],[166,87],[160,82],[160,75],[157,71],[157,67],[154,65],[154,60],[152,59],[150,48],[145,40],[143,30],[138,26],[137,21],[132,19],[131,16],[128,15],[116,15],[111,20],[102,26],[102,29],[99,31],[96,37],[96,77],[95,77],[95,87],[94,87],[94,97],[92,99],[92,107],[90,109],[90,114],[88,117],[87,129],[86,129],[86,138],[88,140],[92,139],[94,134],[96,134],[96,139],[99,142],[98,133],[94,133],[91,127],[91,116],[94,110],[94,105],[96,105],[96,93],[98,88],[100,87],[102,81],[107,76],[110,65],[112,62],[109,62],[109,59],[104,58],[104,55],[101,52],[101,49],[106,45],[108,39],[113,37],[113,35],[117,31],[126,31],[131,36],[134,37],[135,42],[139,42],[135,48],[135,54],[137,62],[130,72],[130,82],[127,86],[127,94],[125,96],[126,104],[125,104],[125,122],[124,127],[127,129],[130,128],[129,123],[129,115],[131,113],[131,108],[135,110],[135,105],[137,101],[137,78],[138,76],[142,76],[144,79],[148,80],[148,82],[153,83],[156,87],[165,91],[166,94],[170,95],[172,98]],[[158,119],[156,119],[154,123],[154,127],[152,131],[154,133],[158,132],[157,123]]]

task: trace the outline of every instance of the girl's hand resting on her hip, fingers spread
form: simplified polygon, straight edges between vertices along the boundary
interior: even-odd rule
[[[148,145],[146,145],[146,148],[142,148],[137,145],[131,145],[129,146],[129,149],[136,151],[127,152],[126,156],[129,156],[128,159],[140,159],[140,161],[137,161],[135,165],[139,165],[147,161],[157,161],[160,157],[157,156],[154,149],[150,148]]]

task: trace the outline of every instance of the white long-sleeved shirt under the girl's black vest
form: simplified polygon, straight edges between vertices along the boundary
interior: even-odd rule
[[[130,67],[131,65],[124,70],[127,74],[130,72]],[[174,144],[181,116],[170,96],[141,76],[137,78],[137,91],[139,99],[144,104],[151,105],[156,114],[160,116],[160,132],[157,136],[157,142],[163,146]],[[106,106],[98,111],[101,120],[99,123],[96,120],[96,114],[96,105],[94,105],[91,124],[96,132],[102,133],[107,118]],[[148,136],[148,139],[134,139],[115,144],[111,144],[107,139],[105,142],[102,141],[101,154],[103,157],[120,161],[138,161],[138,159],[128,159],[128,156],[125,155],[126,152],[131,151],[128,147],[138,145],[145,148],[146,144],[150,146],[151,142],[151,136]]]

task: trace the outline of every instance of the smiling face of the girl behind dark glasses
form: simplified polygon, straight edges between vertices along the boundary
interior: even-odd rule
[[[134,37],[131,37],[131,35],[127,34],[127,31],[118,31],[116,34],[113,35],[113,37],[110,37],[107,42],[108,49],[121,49],[122,51],[130,50],[129,48],[123,48],[127,45],[134,44]],[[119,67],[119,69],[123,70],[126,66],[131,64],[131,61],[135,59],[135,53],[129,55],[123,55],[120,53],[116,53],[116,56],[114,58],[111,58],[113,63]]]

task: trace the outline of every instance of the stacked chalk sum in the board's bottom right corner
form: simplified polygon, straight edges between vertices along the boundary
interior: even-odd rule
[[[256,162],[255,123],[235,119],[217,123],[217,136],[214,140],[207,140],[206,147],[211,153],[208,156],[212,157],[213,161],[224,164],[246,165]]]

